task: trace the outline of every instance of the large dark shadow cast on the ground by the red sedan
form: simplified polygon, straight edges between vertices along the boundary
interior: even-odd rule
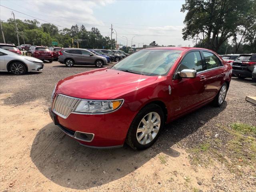
[[[46,178],[60,186],[79,190],[101,186],[130,174],[161,152],[177,158],[180,153],[171,147],[196,132],[202,121],[217,116],[226,105],[204,106],[166,125],[158,141],[144,151],[126,145],[108,150],[86,148],[50,123],[36,135],[30,157]]]

